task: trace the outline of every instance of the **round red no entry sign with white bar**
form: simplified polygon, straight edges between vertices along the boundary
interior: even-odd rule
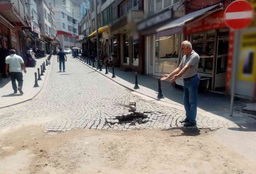
[[[249,2],[234,1],[227,7],[224,16],[228,27],[241,30],[250,25],[254,11]]]

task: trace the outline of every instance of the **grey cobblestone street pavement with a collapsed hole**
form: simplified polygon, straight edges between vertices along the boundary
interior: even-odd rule
[[[10,117],[0,119],[0,128],[26,122],[39,122],[47,131],[66,131],[73,128],[168,129],[182,126],[179,120],[185,118],[184,111],[143,100],[71,56],[68,56],[66,62],[66,72],[59,73],[56,56],[52,58],[48,68],[50,70],[45,85],[35,99],[0,109],[0,115],[14,113]],[[129,108],[125,106],[129,100],[136,101],[135,113],[129,112]],[[118,123],[117,118],[132,117],[133,114],[144,117],[144,123]],[[198,114],[197,126],[188,128],[234,126],[236,125]]]

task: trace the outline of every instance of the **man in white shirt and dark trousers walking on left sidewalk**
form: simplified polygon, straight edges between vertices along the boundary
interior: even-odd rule
[[[12,89],[14,91],[14,94],[17,94],[17,90],[20,92],[20,94],[23,94],[22,91],[22,85],[23,85],[23,75],[22,75],[22,68],[24,70],[24,73],[27,73],[26,67],[24,64],[24,61],[22,57],[16,55],[15,50],[10,50],[10,56],[7,56],[5,59],[5,74],[8,76],[8,67],[9,72],[11,76],[12,81]],[[16,80],[18,81],[18,88],[16,85]]]

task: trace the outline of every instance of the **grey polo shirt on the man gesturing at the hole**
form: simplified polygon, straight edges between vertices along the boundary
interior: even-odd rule
[[[192,65],[182,75],[183,79],[192,77],[197,74],[199,59],[200,59],[199,55],[194,50],[191,52],[190,55],[183,56],[181,64],[179,64],[179,66],[182,66],[182,68],[184,68],[187,63]]]

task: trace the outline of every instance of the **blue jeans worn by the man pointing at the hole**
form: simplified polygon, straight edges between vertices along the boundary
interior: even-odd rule
[[[190,122],[196,123],[197,110],[197,88],[200,82],[199,76],[196,75],[188,81],[183,80],[184,96],[183,102],[186,110],[186,119]]]

